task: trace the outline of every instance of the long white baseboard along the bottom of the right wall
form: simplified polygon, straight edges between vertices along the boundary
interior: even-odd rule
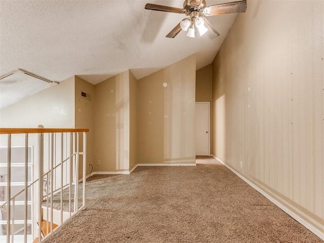
[[[230,171],[232,171],[235,175],[237,175],[239,178],[241,178],[242,180],[244,180],[246,183],[248,183],[250,186],[252,186],[254,189],[256,189],[258,192],[260,192],[262,195],[264,195],[268,200],[270,200],[273,204],[275,204],[278,208],[280,208],[282,211],[286,212],[289,216],[291,216],[293,219],[295,219],[297,222],[299,222],[300,224],[302,224],[303,226],[305,226],[305,228],[309,229],[311,232],[313,232],[315,235],[317,235],[319,238],[321,238],[322,240],[324,240],[324,232],[321,232],[320,230],[318,230],[317,228],[315,228],[313,225],[311,225],[310,223],[306,222],[304,219],[302,219],[300,216],[298,216],[296,213],[292,212],[290,209],[288,209],[286,206],[282,205],[281,203],[279,203],[279,201],[277,201],[276,199],[274,199],[272,196],[270,196],[269,194],[267,194],[265,191],[263,191],[260,187],[258,187],[257,185],[255,185],[253,182],[251,182],[250,180],[248,180],[247,178],[245,178],[244,176],[242,176],[241,174],[239,174],[237,171],[235,171],[233,168],[229,167],[228,165],[226,165],[221,159],[219,159],[218,157],[216,157],[215,155],[211,154],[211,156],[213,156],[216,160],[218,160],[221,164],[223,164],[227,169],[229,169]]]

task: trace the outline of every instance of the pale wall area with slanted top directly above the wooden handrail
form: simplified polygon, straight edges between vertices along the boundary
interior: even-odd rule
[[[0,110],[2,128],[74,128],[74,76]]]

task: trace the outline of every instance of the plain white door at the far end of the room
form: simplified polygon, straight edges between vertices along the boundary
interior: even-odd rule
[[[196,155],[210,155],[210,102],[196,102]]]

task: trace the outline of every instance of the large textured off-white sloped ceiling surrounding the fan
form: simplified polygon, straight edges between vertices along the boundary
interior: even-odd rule
[[[207,5],[232,1],[206,0]],[[208,17],[220,36],[165,36],[183,14],[145,10],[182,8],[182,1],[0,0],[0,75],[23,68],[51,80],[78,75],[97,84],[131,69],[136,78],[196,54],[210,64],[236,14]]]

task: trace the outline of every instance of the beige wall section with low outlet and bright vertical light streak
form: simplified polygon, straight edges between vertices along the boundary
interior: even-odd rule
[[[95,85],[95,171],[129,171],[129,70]],[[122,129],[117,125],[123,124]],[[101,165],[97,165],[101,160]]]

